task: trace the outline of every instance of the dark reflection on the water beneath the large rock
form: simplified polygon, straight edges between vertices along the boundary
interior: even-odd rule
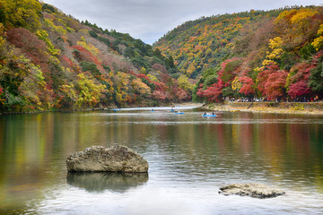
[[[83,188],[89,193],[100,193],[109,190],[126,193],[129,189],[144,185],[148,173],[119,172],[68,172],[67,184]]]

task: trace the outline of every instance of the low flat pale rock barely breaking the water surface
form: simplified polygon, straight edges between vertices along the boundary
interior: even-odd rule
[[[284,192],[279,189],[258,183],[225,185],[223,187],[220,187],[219,193],[224,195],[248,195],[260,199],[272,198],[284,194]]]

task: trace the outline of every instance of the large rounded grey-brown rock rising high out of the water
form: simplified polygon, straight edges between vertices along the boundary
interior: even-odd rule
[[[131,172],[148,171],[148,162],[126,146],[92,146],[75,152],[66,159],[68,171],[74,172]]]

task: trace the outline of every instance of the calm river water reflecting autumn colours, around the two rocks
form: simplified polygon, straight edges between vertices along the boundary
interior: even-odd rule
[[[323,213],[323,117],[166,108],[0,116],[0,214]],[[67,174],[65,159],[123,144],[149,173]],[[271,199],[223,196],[257,182]]]

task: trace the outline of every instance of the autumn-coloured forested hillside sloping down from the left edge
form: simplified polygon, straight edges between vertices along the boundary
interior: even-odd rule
[[[158,105],[191,85],[140,39],[37,0],[0,0],[0,112]]]

